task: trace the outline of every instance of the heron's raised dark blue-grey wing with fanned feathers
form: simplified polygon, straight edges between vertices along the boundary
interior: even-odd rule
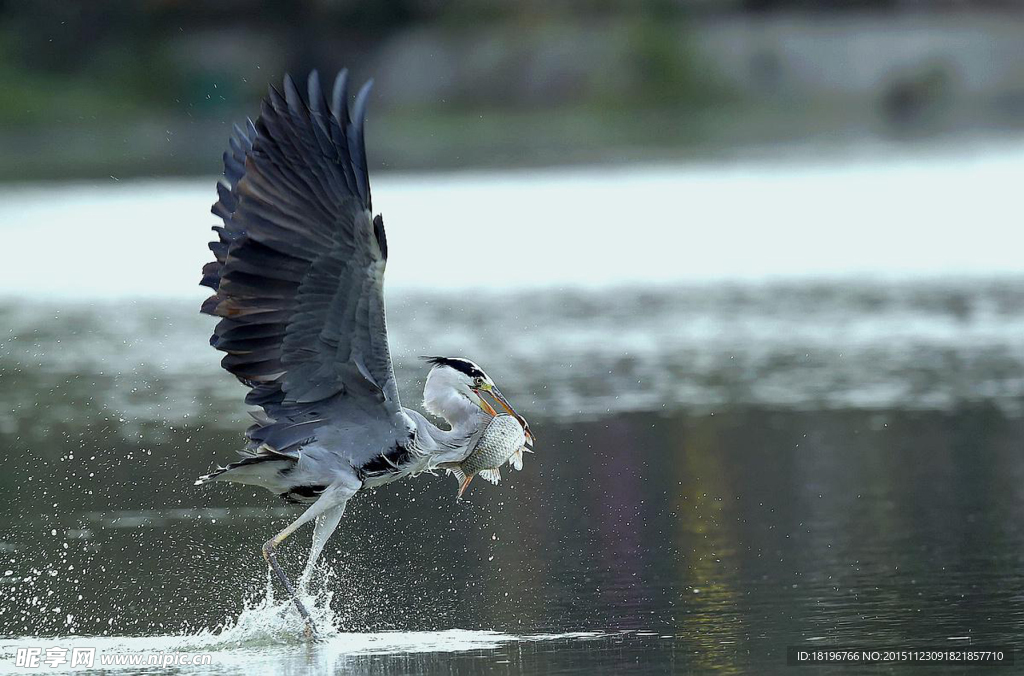
[[[370,83],[351,117],[346,83],[342,72],[329,105],[316,73],[308,101],[286,77],[284,94],[271,87],[256,123],[236,129],[213,207],[223,219],[216,260],[201,282],[215,291],[203,311],[222,318],[211,338],[222,366],[251,388],[247,403],[290,428],[314,426],[314,414],[299,414],[337,396],[401,410],[384,320],[387,243],[371,215],[362,138]]]

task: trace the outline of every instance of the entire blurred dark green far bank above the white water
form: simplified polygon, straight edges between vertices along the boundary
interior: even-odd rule
[[[420,23],[382,18],[375,40],[344,10],[322,7],[292,27],[305,44],[282,44],[280,27],[255,20],[200,30],[195,16],[148,7],[132,11],[151,19],[153,45],[120,36],[112,55],[112,36],[81,49],[54,43],[76,22],[103,16],[93,8],[51,26],[45,43],[85,65],[46,68],[14,34],[18,17],[0,13],[0,55],[11,56],[0,66],[0,180],[219,173],[231,125],[258,115],[267,85],[312,68],[330,78],[344,65],[354,82],[376,81],[374,170],[685,162],[1024,135],[1024,14],[641,4],[580,16],[495,8],[492,20],[459,22],[421,8]],[[36,19],[45,26],[63,11]]]

